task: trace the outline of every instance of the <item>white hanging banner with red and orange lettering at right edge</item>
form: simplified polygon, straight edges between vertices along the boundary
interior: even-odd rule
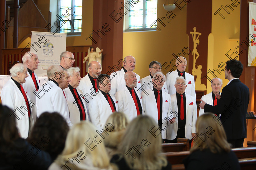
[[[249,50],[248,66],[256,66],[256,3],[249,2]]]

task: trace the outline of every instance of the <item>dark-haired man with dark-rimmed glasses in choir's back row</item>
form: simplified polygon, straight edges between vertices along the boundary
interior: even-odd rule
[[[148,69],[150,74],[147,77],[144,77],[140,80],[140,85],[143,90],[148,90],[148,89],[152,90],[154,85],[152,83],[152,78],[157,71],[162,70],[162,64],[155,60],[151,61]],[[164,83],[162,90],[168,93],[166,82]]]

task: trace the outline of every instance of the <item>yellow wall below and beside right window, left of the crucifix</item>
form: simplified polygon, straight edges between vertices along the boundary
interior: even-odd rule
[[[162,17],[167,18],[166,13],[168,11],[163,8],[163,3],[164,1],[158,1],[157,4],[157,16],[159,19]],[[188,36],[186,34],[187,7],[182,11],[176,8],[173,12],[175,18],[168,19],[169,23],[164,21],[165,27],[158,24],[161,32],[124,32],[123,58],[128,55],[135,57],[136,66],[134,72],[140,75],[140,78],[149,75],[148,65],[151,61],[157,60],[161,64],[165,62],[170,64],[173,58],[172,53],[182,53],[182,49],[188,47]],[[170,68],[171,66],[168,70]],[[166,74],[164,70],[162,72]]]

